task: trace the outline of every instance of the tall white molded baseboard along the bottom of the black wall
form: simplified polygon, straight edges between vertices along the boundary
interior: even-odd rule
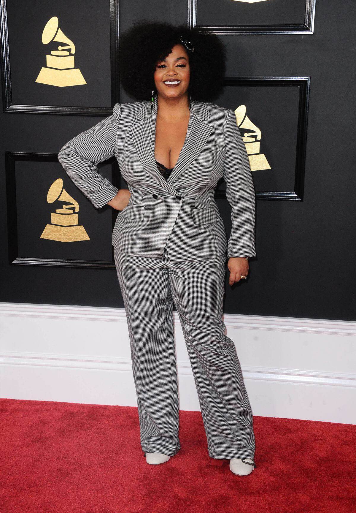
[[[356,424],[356,322],[224,315],[254,416]],[[199,401],[174,311],[180,409]],[[137,406],[124,308],[0,303],[0,397]]]

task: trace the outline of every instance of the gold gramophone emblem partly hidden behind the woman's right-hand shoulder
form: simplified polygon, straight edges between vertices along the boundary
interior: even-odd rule
[[[240,129],[250,130],[242,133],[242,139],[245,143],[248,159],[250,161],[251,171],[261,171],[271,169],[266,155],[260,153],[261,130],[250,121],[246,115],[246,105],[240,105],[235,109],[236,122]]]

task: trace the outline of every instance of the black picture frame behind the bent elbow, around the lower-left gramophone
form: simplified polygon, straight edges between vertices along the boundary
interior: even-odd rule
[[[28,153],[28,152],[5,152],[5,176],[6,176],[6,198],[7,198],[7,231],[8,231],[8,263],[9,265],[35,265],[54,267],[84,267],[89,269],[115,269],[113,247],[111,247],[112,260],[75,260],[75,259],[42,259],[35,257],[21,257],[18,254],[18,229],[17,229],[17,208],[16,208],[16,183],[15,163],[18,161],[31,162],[57,162],[56,153]],[[122,188],[123,179],[119,172],[115,157],[111,157],[105,163],[111,164],[111,182],[118,189]],[[58,165],[60,165],[58,163]],[[89,201],[89,200],[87,200]],[[94,208],[94,207],[93,207]],[[110,208],[110,207],[108,207]],[[111,232],[114,228],[116,216],[120,212],[112,210]],[[111,241],[110,241],[111,242]]]

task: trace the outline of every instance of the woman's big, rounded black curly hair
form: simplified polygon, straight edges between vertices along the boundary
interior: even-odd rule
[[[180,36],[194,46],[194,52],[187,50],[191,99],[207,102],[221,93],[226,49],[219,37],[199,32],[195,27],[188,29],[185,25],[142,19],[120,36],[118,66],[121,84],[127,94],[139,101],[151,100],[152,89],[156,91],[153,78],[156,64],[172,52],[174,45],[182,44]]]

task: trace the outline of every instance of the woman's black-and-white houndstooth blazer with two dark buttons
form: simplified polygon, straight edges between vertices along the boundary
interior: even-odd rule
[[[244,142],[231,109],[191,102],[186,139],[168,179],[154,155],[157,96],[151,102],[116,103],[106,117],[66,143],[58,160],[74,184],[101,208],[118,189],[98,173],[113,155],[131,193],[118,211],[111,243],[129,255],[177,262],[254,257],[255,193]],[[224,177],[231,233],[214,192]]]

